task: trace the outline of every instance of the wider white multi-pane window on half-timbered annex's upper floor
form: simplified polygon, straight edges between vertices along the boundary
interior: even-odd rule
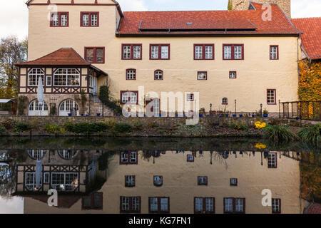
[[[73,68],[58,68],[54,73],[54,86],[80,86],[79,71]]]

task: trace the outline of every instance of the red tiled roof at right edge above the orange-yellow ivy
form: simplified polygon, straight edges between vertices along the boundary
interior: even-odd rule
[[[321,58],[321,17],[292,19],[291,21],[303,32],[302,46],[308,58]]]

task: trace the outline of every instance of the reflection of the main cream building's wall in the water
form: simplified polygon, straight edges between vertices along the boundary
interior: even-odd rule
[[[272,207],[263,207],[263,190],[271,190]],[[108,214],[302,212],[299,162],[280,152],[120,152],[98,193],[103,207],[93,212]],[[83,209],[79,200],[63,212],[91,212]],[[61,211],[28,198],[25,212]]]

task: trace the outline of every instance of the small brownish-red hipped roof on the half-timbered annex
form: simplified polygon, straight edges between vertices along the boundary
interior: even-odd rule
[[[60,48],[34,61],[16,63],[17,66],[90,66],[73,48]]]

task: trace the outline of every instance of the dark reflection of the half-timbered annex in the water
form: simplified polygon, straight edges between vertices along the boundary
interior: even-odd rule
[[[81,196],[83,209],[101,208],[101,193],[91,194],[106,181],[106,170],[99,170],[96,156],[78,150],[27,150],[29,157],[16,166],[15,195],[32,196],[47,202],[49,189],[58,191],[58,207],[71,207]],[[40,171],[39,169],[40,162]],[[37,178],[39,180],[37,181]],[[86,196],[87,195],[87,196]]]

